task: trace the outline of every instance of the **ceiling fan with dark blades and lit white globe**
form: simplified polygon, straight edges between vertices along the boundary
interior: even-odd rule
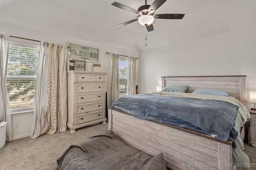
[[[124,25],[127,25],[129,23],[132,23],[132,22],[138,20],[141,25],[146,26],[148,31],[153,31],[154,27],[153,27],[152,23],[154,21],[154,18],[156,18],[156,19],[182,19],[185,15],[185,14],[156,14],[156,15],[154,15],[154,12],[160,6],[162,6],[162,4],[164,4],[164,2],[166,2],[166,0],[155,0],[151,5],[147,5],[147,0],[145,0],[145,1],[146,1],[146,5],[143,5],[140,8],[138,8],[138,11],[136,11],[128,6],[125,6],[123,4],[120,4],[118,2],[112,3],[111,5],[113,5],[113,6],[116,6],[123,10],[132,12],[134,14],[138,14],[137,18],[127,21],[127,22],[124,22],[124,23],[121,23],[116,26],[122,27]]]

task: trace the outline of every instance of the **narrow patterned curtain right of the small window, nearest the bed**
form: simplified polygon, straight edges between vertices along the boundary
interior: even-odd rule
[[[128,59],[128,95],[136,94],[136,57]]]

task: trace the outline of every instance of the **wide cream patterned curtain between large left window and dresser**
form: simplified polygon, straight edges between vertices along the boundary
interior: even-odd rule
[[[66,131],[67,46],[41,42],[31,138]]]

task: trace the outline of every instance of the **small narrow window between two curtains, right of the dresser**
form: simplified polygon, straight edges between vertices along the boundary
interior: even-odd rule
[[[120,56],[118,60],[119,96],[127,95],[128,57]]]

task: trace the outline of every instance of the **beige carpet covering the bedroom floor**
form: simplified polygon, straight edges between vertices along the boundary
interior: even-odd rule
[[[0,150],[0,170],[54,170],[57,158],[68,146],[107,130],[108,123],[100,123],[77,129],[75,133],[70,133],[68,129],[66,132],[45,134],[36,139],[24,137],[7,142]],[[244,148],[250,162],[256,166],[256,148],[246,144]],[[256,167],[251,170],[256,170]]]

